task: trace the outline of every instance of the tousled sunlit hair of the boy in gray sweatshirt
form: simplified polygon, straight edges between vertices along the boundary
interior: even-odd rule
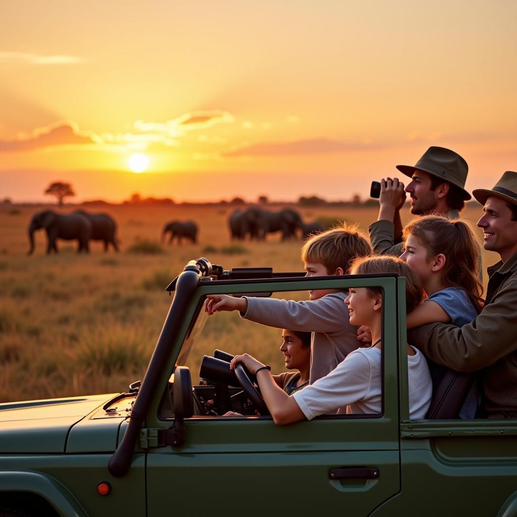
[[[372,252],[370,241],[357,226],[343,223],[309,237],[301,248],[301,260],[323,264],[329,275],[333,275],[338,267],[347,274],[356,257]]]

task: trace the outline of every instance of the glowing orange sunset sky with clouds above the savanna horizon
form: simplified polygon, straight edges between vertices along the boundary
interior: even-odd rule
[[[517,170],[516,20],[514,1],[4,2],[0,199],[54,180],[78,201],[349,199],[430,145],[491,188]]]

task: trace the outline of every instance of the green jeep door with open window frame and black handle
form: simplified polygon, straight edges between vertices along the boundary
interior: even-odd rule
[[[346,288],[354,277],[325,286]],[[357,278],[357,277],[356,277]],[[184,331],[204,295],[250,292],[250,285],[205,285],[196,293]],[[398,404],[398,298],[396,278],[362,280],[384,288],[383,413],[328,415],[278,426],[270,417],[194,416],[185,421],[180,447],[147,449],[147,511],[230,513],[323,509],[368,515],[400,490]],[[355,280],[355,285],[358,281]],[[322,280],[271,282],[263,291],[307,291]],[[257,287],[254,287],[255,290]],[[405,329],[404,329],[405,334]],[[214,348],[221,347],[214,343]],[[180,352],[181,343],[175,347]],[[171,365],[172,367],[174,364]],[[171,420],[148,416],[148,427],[165,429]]]

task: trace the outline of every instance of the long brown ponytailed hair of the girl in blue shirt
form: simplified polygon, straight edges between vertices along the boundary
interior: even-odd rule
[[[440,253],[445,255],[447,260],[441,270],[443,284],[463,289],[479,314],[483,308],[483,284],[478,271],[481,249],[472,226],[459,219],[423,216],[404,228],[404,242],[409,234],[427,249],[428,259]]]

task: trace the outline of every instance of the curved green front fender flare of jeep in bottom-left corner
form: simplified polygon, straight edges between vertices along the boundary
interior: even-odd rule
[[[65,517],[87,517],[72,494],[56,479],[27,470],[0,472],[0,493],[31,492],[43,497]]]

